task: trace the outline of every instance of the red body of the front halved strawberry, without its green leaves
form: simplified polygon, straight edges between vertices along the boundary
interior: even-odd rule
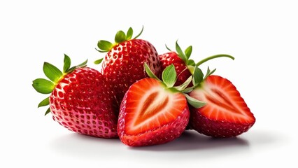
[[[118,118],[118,135],[127,146],[150,146],[172,141],[185,130],[190,112],[184,95],[144,78],[127,90]]]

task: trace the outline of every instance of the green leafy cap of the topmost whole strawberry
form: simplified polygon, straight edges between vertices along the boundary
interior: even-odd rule
[[[134,30],[132,29],[132,27],[129,27],[129,29],[127,30],[127,33],[125,34],[124,31],[120,30],[116,33],[115,35],[115,43],[111,43],[110,41],[105,41],[105,40],[100,40],[97,43],[97,48],[95,48],[97,51],[99,52],[108,52],[110,51],[115,45],[118,45],[124,41],[129,41],[131,39],[136,39],[139,36],[141,36],[142,32],[143,32],[144,27],[142,27],[141,32],[136,35],[134,38],[132,38],[132,35],[134,33]]]

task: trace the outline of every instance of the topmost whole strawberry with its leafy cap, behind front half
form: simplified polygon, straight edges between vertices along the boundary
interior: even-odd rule
[[[124,31],[118,31],[114,44],[102,40],[97,44],[99,52],[108,52],[104,57],[101,72],[113,85],[119,104],[130,85],[147,77],[143,69],[144,62],[157,76],[161,73],[155,47],[148,41],[136,39],[141,33],[132,38],[133,30],[130,27],[127,34]],[[101,60],[99,59],[95,63],[99,64]]]

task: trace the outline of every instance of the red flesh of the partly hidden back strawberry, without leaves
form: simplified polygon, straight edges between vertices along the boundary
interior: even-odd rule
[[[190,73],[190,70],[187,68],[187,65],[185,62],[178,56],[177,52],[167,52],[162,55],[159,55],[160,64],[162,66],[162,70],[166,69],[167,66],[170,66],[173,64],[175,66],[176,72],[178,74],[177,81],[175,85],[181,85],[182,83],[187,80],[190,76],[192,76],[192,73]],[[190,85],[191,86],[191,85]]]

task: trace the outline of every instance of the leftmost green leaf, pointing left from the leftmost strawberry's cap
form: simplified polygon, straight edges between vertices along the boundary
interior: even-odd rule
[[[46,80],[44,78],[37,78],[33,80],[32,86],[37,92],[48,94],[54,90],[55,83],[52,83],[50,80]]]

